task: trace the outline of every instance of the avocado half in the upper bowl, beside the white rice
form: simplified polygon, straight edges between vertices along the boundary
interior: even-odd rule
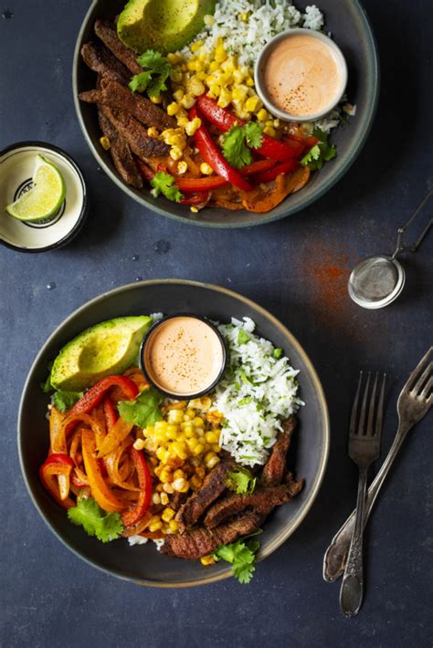
[[[175,52],[203,29],[204,18],[215,11],[216,0],[129,0],[117,23],[127,47],[143,54],[156,49]]]

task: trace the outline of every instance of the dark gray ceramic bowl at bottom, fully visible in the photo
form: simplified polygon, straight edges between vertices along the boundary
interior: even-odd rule
[[[47,340],[29,371],[18,418],[20,462],[28,492],[40,515],[57,537],[80,558],[100,570],[142,585],[201,585],[230,576],[227,563],[221,561],[204,568],[199,560],[174,559],[159,554],[150,543],[132,548],[126,540],[102,544],[69,523],[65,511],[48,496],[38,477],[38,468],[48,451],[48,421],[45,417],[48,400],[39,386],[46,377],[48,362],[68,340],[103,319],[158,311],[166,314],[195,312],[220,321],[248,316],[255,320],[259,334],[282,347],[291,364],[301,370],[301,397],[306,406],[300,415],[293,459],[296,474],[304,477],[305,487],[292,503],[278,508],[267,520],[259,538],[259,559],[269,556],[290,537],[312,507],[326,467],[329,420],[322,386],[311,361],[290,331],[267,310],[226,288],[179,279],[143,281],[115,288],[72,313]]]

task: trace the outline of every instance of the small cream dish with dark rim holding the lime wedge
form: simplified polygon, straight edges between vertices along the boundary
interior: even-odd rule
[[[66,184],[65,200],[46,221],[25,223],[6,214],[5,205],[31,187],[37,154],[52,162]],[[65,246],[79,233],[89,210],[83,174],[68,153],[42,141],[22,141],[0,152],[0,241],[19,252],[46,252]]]

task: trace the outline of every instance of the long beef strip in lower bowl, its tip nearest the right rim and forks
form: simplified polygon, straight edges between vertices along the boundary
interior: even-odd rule
[[[249,495],[238,495],[232,493],[218,500],[213,507],[210,507],[205,517],[205,527],[215,528],[227,521],[229,517],[242,513],[246,508],[253,508],[257,511],[268,510],[269,507],[280,507],[281,504],[289,502],[301,491],[303,482],[289,481],[280,486],[259,486],[254,493]]]

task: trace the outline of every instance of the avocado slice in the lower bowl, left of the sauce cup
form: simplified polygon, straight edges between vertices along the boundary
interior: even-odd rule
[[[84,330],[58,353],[51,369],[52,386],[80,392],[104,376],[125,371],[137,360],[152,322],[144,315],[108,319]]]

